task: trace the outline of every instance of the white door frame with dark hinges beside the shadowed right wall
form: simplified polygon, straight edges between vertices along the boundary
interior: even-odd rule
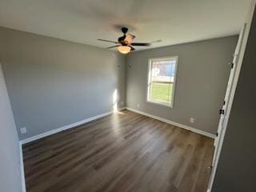
[[[212,187],[213,187],[213,184],[214,184],[214,178],[215,178],[217,167],[218,167],[218,161],[219,161],[219,158],[220,158],[220,154],[222,152],[222,146],[223,146],[223,142],[224,142],[224,138],[225,138],[225,134],[226,134],[226,127],[227,127],[228,122],[229,122],[230,111],[231,111],[232,104],[233,104],[233,101],[234,101],[234,94],[235,94],[235,90],[236,90],[237,85],[238,85],[238,78],[239,78],[239,74],[240,74],[240,71],[241,71],[241,68],[242,68],[242,61],[243,61],[244,54],[245,54],[245,51],[246,51],[246,45],[247,45],[248,37],[249,37],[249,34],[250,34],[250,26],[251,26],[252,18],[253,18],[253,15],[254,15],[255,3],[256,3],[256,0],[252,0],[251,6],[250,6],[250,11],[249,11],[248,17],[246,19],[246,23],[244,24],[244,29],[243,29],[244,34],[242,34],[243,31],[240,34],[241,41],[242,41],[241,42],[241,49],[238,51],[237,66],[235,66],[235,68],[234,68],[235,69],[234,70],[234,78],[233,78],[233,81],[231,82],[232,84],[230,86],[230,93],[229,93],[230,94],[230,99],[229,99],[229,102],[226,103],[225,117],[221,117],[221,118],[224,118],[224,119],[220,119],[220,120],[223,120],[222,129],[221,129],[221,131],[218,135],[218,138],[216,138],[215,142],[214,142],[214,146],[215,146],[216,151],[214,151],[214,160],[213,160],[213,166],[212,166],[212,170],[211,170],[211,174],[210,174],[210,181],[209,181],[209,186],[208,186],[208,190],[207,190],[208,192],[211,192],[211,190],[212,190]],[[238,42],[238,44],[239,44],[239,42]],[[234,57],[236,57],[236,56],[234,55]],[[219,131],[219,129],[218,129],[218,131]]]

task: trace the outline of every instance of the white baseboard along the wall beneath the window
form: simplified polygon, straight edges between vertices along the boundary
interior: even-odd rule
[[[166,118],[160,118],[160,117],[155,116],[153,114],[147,114],[145,112],[142,112],[141,110],[134,110],[134,109],[132,109],[130,107],[126,107],[126,110],[130,110],[130,111],[133,111],[133,112],[135,112],[137,114],[142,114],[142,115],[145,115],[145,116],[150,117],[150,118],[158,119],[161,122],[166,122],[166,123],[169,123],[171,125],[178,126],[178,127],[182,128],[182,129],[185,129],[185,130],[190,130],[190,131],[192,131],[192,132],[194,132],[196,134],[202,134],[202,135],[204,135],[204,136],[206,136],[208,138],[216,138],[216,136],[214,134],[207,133],[206,131],[198,130],[196,128],[193,128],[191,126],[186,126],[186,125],[183,125],[183,124],[178,123],[178,122],[173,122],[173,121],[170,121],[170,120],[168,120]]]

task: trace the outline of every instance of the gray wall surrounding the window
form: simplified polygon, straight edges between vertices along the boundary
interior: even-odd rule
[[[214,134],[237,40],[232,36],[129,54],[126,106]],[[148,59],[166,56],[178,56],[173,108],[146,102]]]

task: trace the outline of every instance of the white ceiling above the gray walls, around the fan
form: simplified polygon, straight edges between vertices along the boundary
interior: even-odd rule
[[[128,26],[134,42],[162,39],[152,46],[159,47],[238,34],[249,7],[250,0],[0,0],[0,26],[98,47],[112,44],[97,38],[117,40],[116,26]]]

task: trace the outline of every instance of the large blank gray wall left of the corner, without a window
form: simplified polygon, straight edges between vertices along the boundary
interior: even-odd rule
[[[125,106],[122,54],[2,27],[0,42],[20,139],[113,110],[114,90]]]

